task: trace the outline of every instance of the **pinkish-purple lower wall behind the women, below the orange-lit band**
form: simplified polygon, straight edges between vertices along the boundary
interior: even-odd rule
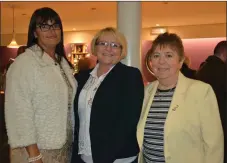
[[[201,62],[203,62],[209,55],[213,54],[213,49],[216,44],[222,40],[226,40],[226,38],[202,38],[202,39],[183,39],[183,44],[185,48],[185,54],[191,60],[190,67],[192,69],[198,69]],[[145,55],[149,48],[152,45],[152,41],[142,41],[142,73],[144,77],[144,81],[153,81],[155,78],[149,73],[145,66]],[[90,49],[90,48],[88,48]],[[7,65],[9,58],[16,57],[17,49],[9,49],[5,46],[0,46],[0,70],[1,72]],[[66,54],[70,52],[70,45],[67,44],[65,46]],[[92,64],[96,63],[96,57],[93,55],[90,56]],[[93,67],[93,65],[92,65]]]

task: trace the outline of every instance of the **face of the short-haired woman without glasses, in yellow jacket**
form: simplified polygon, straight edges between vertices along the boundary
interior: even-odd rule
[[[177,51],[169,46],[157,46],[150,57],[150,62],[152,71],[160,80],[176,79],[183,64],[183,60],[180,60]]]

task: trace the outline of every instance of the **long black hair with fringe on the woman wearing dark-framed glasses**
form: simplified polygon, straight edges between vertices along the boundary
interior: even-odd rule
[[[66,59],[68,64],[70,65],[71,68],[73,68],[72,64],[68,61],[66,55],[65,55],[65,50],[64,50],[64,44],[63,44],[63,27],[62,27],[62,21],[60,16],[55,12],[53,9],[49,7],[43,7],[40,9],[35,10],[35,12],[32,14],[30,23],[29,23],[29,28],[28,28],[28,41],[27,41],[27,48],[37,44],[37,38],[34,35],[34,31],[36,29],[37,25],[47,23],[48,20],[53,20],[55,21],[56,24],[60,25],[61,28],[61,40],[57,44],[55,48],[55,53],[57,54],[57,62],[60,63],[62,57]],[[38,44],[37,44],[38,45]],[[40,47],[42,49],[42,47]]]

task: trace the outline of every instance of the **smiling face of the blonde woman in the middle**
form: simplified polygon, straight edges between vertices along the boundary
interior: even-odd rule
[[[99,37],[96,43],[96,55],[99,64],[112,66],[121,60],[122,46],[111,33]]]

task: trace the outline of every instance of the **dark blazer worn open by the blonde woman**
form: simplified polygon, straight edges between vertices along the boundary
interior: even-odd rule
[[[76,75],[75,136],[71,163],[82,163],[78,155],[78,98],[90,76]],[[136,128],[144,98],[142,75],[137,68],[117,63],[99,86],[91,108],[90,139],[94,163],[113,163],[119,158],[136,156],[139,147]]]

